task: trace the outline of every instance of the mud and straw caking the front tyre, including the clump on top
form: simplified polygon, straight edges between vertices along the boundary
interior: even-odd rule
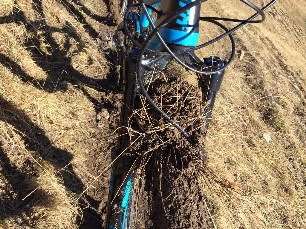
[[[140,108],[135,116],[150,136],[142,153],[150,158],[145,165],[145,189],[154,200],[151,228],[208,228],[199,175],[204,166],[200,147],[206,136],[201,91],[183,78],[173,77],[168,82],[156,80],[148,93],[196,143],[190,143],[178,129],[168,125],[150,104],[140,103],[145,110]]]

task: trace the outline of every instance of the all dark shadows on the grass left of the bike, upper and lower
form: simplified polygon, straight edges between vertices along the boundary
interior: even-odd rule
[[[102,17],[93,14],[84,5],[76,3],[78,7],[69,3],[66,0],[61,0],[60,3],[65,7],[67,13],[72,15],[75,20],[83,24],[84,29],[88,32],[92,39],[95,39],[98,35],[97,31],[86,21],[82,12],[90,16],[96,21],[103,22],[106,25],[114,26],[107,17]],[[39,80],[29,75],[23,68],[7,55],[4,50],[0,50],[0,63],[9,68],[13,75],[20,77],[20,79],[34,86],[36,89],[43,90],[47,93],[53,93],[55,91],[67,90],[68,83],[76,85],[84,93],[84,95],[96,105],[96,110],[100,109],[99,101],[87,93],[85,87],[91,87],[97,91],[109,91],[116,90],[117,76],[116,74],[110,74],[106,79],[96,79],[82,74],[73,67],[73,60],[69,56],[69,50],[72,48],[72,42],[78,43],[78,49],[74,51],[73,55],[80,52],[86,53],[86,44],[76,31],[76,28],[66,22],[62,28],[56,28],[48,25],[45,20],[45,13],[43,11],[42,2],[40,0],[32,0],[32,9],[37,15],[36,20],[29,21],[21,7],[18,5],[17,0],[14,1],[14,7],[12,12],[8,16],[0,17],[0,24],[12,23],[17,25],[24,25],[27,34],[31,37],[20,41],[20,44],[30,54],[33,61],[38,67],[43,69],[47,74],[45,80]],[[82,12],[81,12],[82,11]],[[54,40],[54,33],[61,33],[65,37],[65,42],[59,44]],[[42,40],[48,44],[42,47]],[[105,56],[106,61],[115,62],[116,57],[114,54]],[[91,61],[91,60],[89,60]],[[114,69],[110,69],[114,72]],[[24,145],[28,150],[33,152],[34,158],[40,158],[41,160],[48,161],[54,168],[60,172],[56,174],[63,180],[63,184],[72,193],[80,195],[84,191],[84,184],[76,176],[73,171],[73,167],[70,164],[73,155],[68,151],[56,148],[50,142],[48,137],[44,134],[44,131],[35,125],[25,112],[20,111],[14,104],[5,100],[0,96],[0,120],[13,126],[16,133],[24,140]],[[9,118],[8,118],[9,117]],[[11,194],[15,194],[14,198],[10,194],[4,194],[1,196],[2,206],[0,207],[3,212],[0,214],[0,220],[5,220],[7,217],[21,217],[26,222],[26,217],[32,217],[30,208],[41,204],[41,198],[46,198],[48,194],[39,189],[39,185],[28,185],[27,181],[37,176],[40,171],[38,165],[34,165],[31,161],[24,162],[24,165],[28,171],[23,172],[25,168],[23,165],[14,165],[10,160],[7,153],[7,146],[0,143],[0,159],[2,170],[1,176],[6,180]],[[33,167],[34,166],[34,167]],[[35,191],[34,191],[35,190]],[[32,193],[31,193],[32,192]],[[25,199],[24,199],[25,198]],[[23,200],[24,199],[24,200]],[[84,222],[80,228],[101,228],[101,215],[93,211],[84,202],[86,199],[91,205],[95,205],[96,201],[90,196],[83,194],[83,198],[79,199],[79,205],[83,209]],[[80,219],[78,219],[78,223]],[[33,224],[35,225],[35,219],[33,218]],[[25,225],[25,224],[24,224]]]

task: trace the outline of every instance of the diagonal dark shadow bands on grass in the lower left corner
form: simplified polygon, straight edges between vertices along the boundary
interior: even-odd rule
[[[78,204],[84,215],[84,223],[81,228],[102,228],[101,215],[92,210],[88,204],[96,201],[82,194],[84,184],[76,176],[71,164],[73,155],[68,151],[54,147],[43,130],[35,125],[24,112],[20,111],[14,104],[5,100],[0,96],[1,114],[0,120],[11,125],[14,134],[18,134],[23,140],[28,152],[31,152],[33,160],[24,160],[16,165],[17,161],[12,161],[12,157],[8,157],[6,151],[10,150],[9,146],[0,143],[0,168],[2,179],[6,183],[5,190],[1,193],[2,206],[0,209],[0,221],[7,217],[19,217],[23,219],[23,223],[31,223],[29,226],[35,226],[35,217],[31,214],[31,207],[41,204],[48,204],[52,201],[52,194],[47,194],[39,189],[39,184],[35,183],[35,177],[43,173],[39,161],[45,161],[54,167],[57,171],[54,176],[62,180],[62,184],[68,190],[67,193],[74,193],[75,196],[81,196]],[[5,147],[5,149],[4,149]],[[20,154],[15,150],[16,154]],[[14,152],[14,151],[13,151]],[[22,172],[21,172],[22,171]],[[32,219],[32,222],[29,222]],[[80,219],[78,219],[80,221]],[[80,223],[80,222],[78,222]]]

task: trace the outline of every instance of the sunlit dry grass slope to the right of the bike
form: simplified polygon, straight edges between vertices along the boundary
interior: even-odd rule
[[[252,13],[241,11],[240,2],[210,4],[203,15],[246,18]],[[217,228],[306,225],[306,30],[301,9],[306,2],[277,2],[263,24],[234,33],[238,52],[217,97],[207,148],[211,168],[238,194],[224,198],[227,207],[220,204],[214,211]],[[228,44],[219,42],[207,51],[228,56]]]

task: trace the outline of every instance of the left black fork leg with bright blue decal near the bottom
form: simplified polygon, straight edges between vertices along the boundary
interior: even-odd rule
[[[135,97],[137,95],[136,85],[136,61],[138,52],[128,51],[123,62],[123,94],[121,103],[121,112],[118,125],[117,144],[111,150],[111,178],[106,205],[105,226],[106,229],[123,228],[127,224],[127,216],[130,190],[132,186],[132,168],[129,163],[129,157],[122,157],[127,154],[129,147],[139,136],[130,138],[126,127],[129,124],[129,118],[135,107]]]

